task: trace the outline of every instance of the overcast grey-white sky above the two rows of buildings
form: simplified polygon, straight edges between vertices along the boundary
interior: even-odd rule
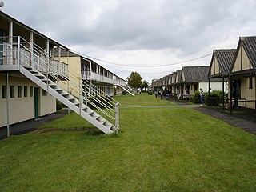
[[[2,1],[6,14],[125,79],[210,66],[214,49],[256,35],[256,0]]]

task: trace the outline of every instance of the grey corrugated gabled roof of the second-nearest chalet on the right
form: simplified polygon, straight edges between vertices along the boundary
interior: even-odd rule
[[[210,62],[210,69],[209,69],[209,77],[210,77],[210,70],[211,66],[213,65],[214,57],[218,61],[218,66],[221,71],[221,74],[214,75],[217,77],[227,77],[230,75],[230,70],[232,67],[232,62],[234,60],[236,49],[222,49],[222,50],[214,50],[213,56]]]

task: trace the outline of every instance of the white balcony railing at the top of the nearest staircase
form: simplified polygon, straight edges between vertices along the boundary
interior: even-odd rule
[[[6,38],[6,37],[0,37]],[[6,66],[30,66],[42,73],[68,76],[68,65],[58,62],[50,56],[47,58],[46,50],[21,37],[13,37],[13,43],[2,42],[0,46],[0,70]],[[3,66],[3,67],[1,67]],[[8,67],[7,67],[8,68]]]

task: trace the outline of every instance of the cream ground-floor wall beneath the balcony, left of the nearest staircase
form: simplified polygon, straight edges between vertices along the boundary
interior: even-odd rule
[[[10,86],[14,86],[14,98],[9,99],[10,124],[34,118],[34,87],[37,85],[22,76],[9,76]],[[0,127],[6,126],[6,98],[2,98],[2,86],[6,85],[6,75],[0,74]],[[18,98],[18,86],[22,86],[22,97]],[[27,86],[27,97],[24,97],[24,86]],[[33,86],[33,97],[30,97],[30,86]],[[10,88],[7,89],[10,95]],[[42,96],[42,90],[40,90]],[[50,95],[39,98],[39,115],[56,112],[55,98]]]

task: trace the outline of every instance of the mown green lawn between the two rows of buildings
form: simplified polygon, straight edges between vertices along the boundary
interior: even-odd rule
[[[0,140],[0,191],[255,191],[254,135],[191,108],[125,107],[168,104],[154,96],[116,99],[123,105],[118,134]],[[74,114],[57,121],[50,126],[92,127]]]

